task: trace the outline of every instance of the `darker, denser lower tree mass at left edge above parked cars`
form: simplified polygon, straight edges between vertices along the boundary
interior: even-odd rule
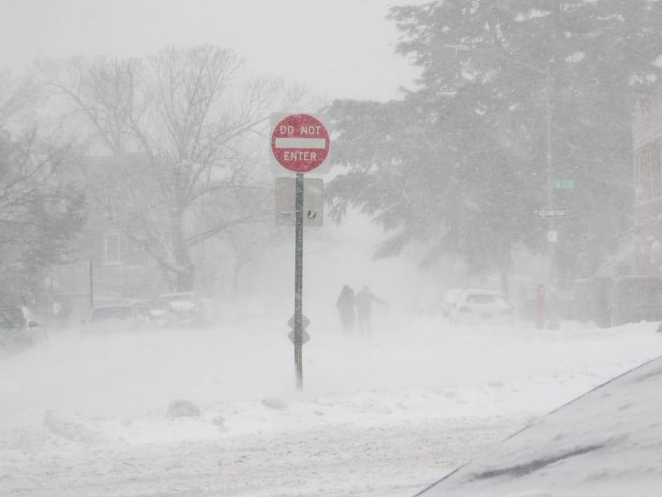
[[[66,148],[37,146],[32,132],[0,137],[1,293],[39,291],[43,270],[68,261],[86,199],[61,182],[65,166]]]

